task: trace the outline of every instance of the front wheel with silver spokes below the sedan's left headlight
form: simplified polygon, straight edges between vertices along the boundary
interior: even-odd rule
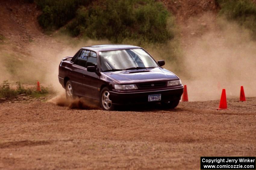
[[[114,110],[114,105],[110,100],[110,92],[107,87],[103,88],[100,93],[100,104],[103,110]]]

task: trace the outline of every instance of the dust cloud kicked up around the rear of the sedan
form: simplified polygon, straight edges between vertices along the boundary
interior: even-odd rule
[[[100,109],[98,102],[88,100],[84,97],[67,99],[64,94],[65,89],[58,81],[58,67],[62,58],[73,56],[81,47],[104,43],[109,42],[107,40],[72,40],[70,37],[58,36],[55,38],[55,42],[53,42],[52,46],[48,49],[45,47],[45,44],[31,46],[31,50],[34,51],[33,55],[39,54],[39,57],[44,59],[44,62],[42,62],[41,65],[45,73],[41,77],[43,84],[51,85],[53,90],[57,92],[57,96],[50,99],[48,102],[58,106],[69,107],[70,109]]]

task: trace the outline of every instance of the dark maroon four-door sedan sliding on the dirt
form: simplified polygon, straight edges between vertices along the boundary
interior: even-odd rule
[[[99,100],[104,110],[115,105],[162,103],[175,108],[183,93],[179,77],[162,68],[143,48],[131,45],[95,45],[63,58],[59,82],[67,98]]]

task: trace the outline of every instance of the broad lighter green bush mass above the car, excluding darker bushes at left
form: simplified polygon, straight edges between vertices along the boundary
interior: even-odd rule
[[[169,16],[164,5],[154,0],[107,0],[81,7],[67,30],[73,36],[83,34],[113,43],[126,38],[163,43],[173,38],[173,32],[167,29]]]

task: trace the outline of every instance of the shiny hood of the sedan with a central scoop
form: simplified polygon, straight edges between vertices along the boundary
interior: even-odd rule
[[[145,81],[164,81],[178,79],[178,77],[164,68],[123,70],[114,72],[105,72],[107,76],[120,83],[135,83]]]

